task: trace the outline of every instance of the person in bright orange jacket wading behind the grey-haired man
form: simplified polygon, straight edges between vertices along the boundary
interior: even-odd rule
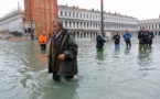
[[[46,43],[47,43],[47,37],[45,32],[39,36],[39,43],[40,43],[41,51],[45,51]]]

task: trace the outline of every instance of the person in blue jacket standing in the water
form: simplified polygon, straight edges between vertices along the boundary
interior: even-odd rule
[[[126,46],[128,47],[131,47],[131,42],[130,42],[130,37],[131,37],[131,34],[129,33],[128,30],[126,30],[126,32],[124,33],[122,35],[125,42],[126,42]]]

